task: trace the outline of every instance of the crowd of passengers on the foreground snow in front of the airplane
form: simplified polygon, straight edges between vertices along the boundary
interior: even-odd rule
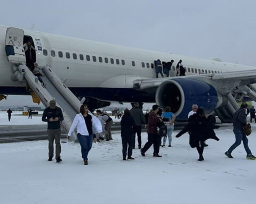
[[[86,105],[82,105],[80,108],[80,113],[76,115],[68,132],[67,138],[69,138],[71,133],[77,129],[76,133],[78,141],[81,145],[84,165],[88,164],[88,154],[91,150],[93,141],[97,142],[99,139],[106,139],[107,141],[112,140],[112,118],[106,113],[102,113],[100,110],[97,110],[96,113],[97,116],[94,116],[89,112]],[[235,143],[225,152],[225,155],[229,158],[233,158],[233,156],[231,156],[231,152],[243,141],[244,148],[247,153],[246,158],[253,160],[256,159],[256,157],[252,155],[252,152],[248,146],[248,139],[244,132],[244,126],[249,124],[246,122],[246,116],[247,104],[242,103],[241,108],[234,114],[233,118],[233,131],[236,140]],[[62,120],[63,114],[61,109],[56,106],[54,100],[51,100],[50,106],[44,110],[42,121],[45,121],[48,124],[47,134],[49,138],[49,161],[52,161],[53,158],[53,142],[55,140],[55,159],[58,163],[62,161],[60,158],[60,122]],[[165,147],[167,138],[169,140],[168,147],[172,147],[171,142],[174,121],[175,115],[171,112],[171,107],[165,107],[163,110],[159,108],[158,105],[153,105],[152,111],[148,115],[148,120],[146,120],[145,115],[143,115],[139,103],[134,103],[131,110],[126,108],[121,119],[123,160],[134,159],[132,157],[132,151],[135,149],[136,134],[138,138],[138,148],[140,149],[143,157],[146,156],[146,152],[152,145],[154,149],[153,156],[162,157],[159,154],[159,149],[161,146]],[[215,125],[215,123],[216,119],[214,115],[207,115],[202,107],[198,108],[198,106],[194,104],[192,106],[192,111],[188,113],[188,124],[175,137],[179,138],[182,134],[188,132],[190,147],[197,149],[199,155],[198,161],[203,161],[204,147],[207,146],[205,141],[207,139],[219,141],[219,138],[214,132],[214,129],[219,128],[219,126]],[[148,134],[148,141],[143,147],[141,141],[142,126],[147,128]]]

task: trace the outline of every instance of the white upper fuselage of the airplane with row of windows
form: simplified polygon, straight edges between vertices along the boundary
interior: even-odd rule
[[[7,61],[5,54],[6,29],[7,27],[0,26],[0,90],[1,87],[24,86],[20,82],[11,80],[12,63]],[[153,52],[43,32],[29,30],[24,30],[24,32],[25,36],[31,36],[34,42],[35,39],[40,39],[42,49],[47,50],[47,55],[45,55],[44,51],[38,50],[35,45],[37,49],[36,61],[39,66],[51,66],[60,79],[67,79],[65,83],[70,88],[132,89],[134,80],[156,77],[155,69],[151,67],[151,64],[154,64],[154,61],[158,58],[165,62],[174,60],[170,71],[171,77],[176,74],[175,66],[179,60],[182,60],[183,66],[187,68],[186,75],[199,74],[199,70],[209,73],[256,69],[252,66]],[[53,51],[55,56],[51,55]],[[63,57],[59,56],[59,52],[62,52]],[[66,57],[66,53],[69,53],[70,58]],[[73,54],[76,55],[77,58],[74,56],[76,59]],[[83,58],[80,58],[80,55],[83,55]],[[86,56],[90,56],[90,61]],[[102,58],[102,62],[99,61],[99,57]],[[107,58],[108,63],[106,63],[105,58]],[[119,64],[116,60],[119,60]],[[133,66],[132,61],[135,66]],[[145,63],[145,67],[142,67],[142,63]],[[147,63],[149,63],[149,67],[147,67]],[[191,72],[192,68],[194,72]],[[195,70],[197,73],[195,73]]]

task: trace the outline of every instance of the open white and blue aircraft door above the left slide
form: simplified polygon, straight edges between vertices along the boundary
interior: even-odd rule
[[[5,36],[5,52],[9,62],[26,63],[23,49],[24,31],[19,28],[9,27]]]

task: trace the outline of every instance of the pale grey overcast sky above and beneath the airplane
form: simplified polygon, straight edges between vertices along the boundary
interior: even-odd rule
[[[1,1],[0,24],[256,66],[255,8],[253,0],[8,0]],[[0,101],[8,104],[31,100]]]

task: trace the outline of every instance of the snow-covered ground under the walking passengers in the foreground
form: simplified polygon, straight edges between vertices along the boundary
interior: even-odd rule
[[[256,154],[252,126],[249,146]],[[204,162],[197,162],[188,135],[173,137],[173,147],[160,149],[162,158],[153,157],[151,147],[146,157],[135,149],[135,160],[123,162],[115,134],[113,141],[93,144],[88,166],[78,143],[61,143],[61,164],[47,161],[47,141],[1,144],[0,203],[254,203],[256,160],[245,159],[242,145],[227,158],[231,126],[216,132],[220,141],[207,141]]]

